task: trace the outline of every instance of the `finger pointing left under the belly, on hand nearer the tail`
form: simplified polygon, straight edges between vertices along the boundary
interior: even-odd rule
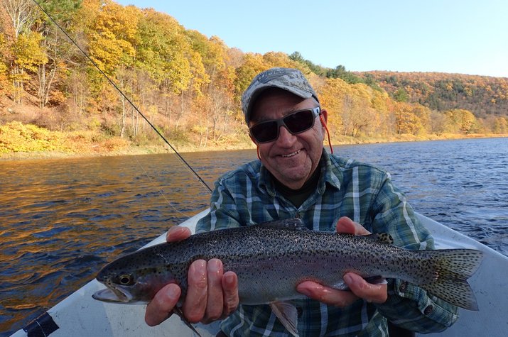
[[[332,289],[312,281],[301,282],[296,286],[296,290],[311,299],[341,307],[348,306],[358,300],[358,297],[352,292]]]

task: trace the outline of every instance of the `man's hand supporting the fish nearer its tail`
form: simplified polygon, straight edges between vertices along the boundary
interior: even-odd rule
[[[360,223],[355,223],[346,216],[337,221],[337,233],[360,236],[370,234]],[[335,306],[348,306],[359,298],[367,302],[384,303],[388,298],[387,284],[371,284],[353,272],[345,274],[344,281],[351,292],[332,289],[311,281],[301,282],[296,286],[296,290],[319,302]]]

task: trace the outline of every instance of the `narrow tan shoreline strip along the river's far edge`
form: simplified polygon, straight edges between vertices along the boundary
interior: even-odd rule
[[[361,144],[375,144],[375,143],[404,143],[404,142],[420,142],[420,141],[435,141],[435,140],[459,140],[459,139],[475,139],[475,138],[506,138],[508,134],[471,134],[471,135],[457,135],[457,134],[445,134],[441,136],[436,135],[425,135],[425,136],[413,136],[413,135],[399,135],[391,138],[352,138],[344,137],[342,141],[333,141],[333,146],[337,145],[361,145]],[[328,148],[328,143],[324,143],[325,148]],[[195,152],[214,152],[224,150],[254,150],[254,144],[252,143],[237,143],[229,144],[225,146],[175,146],[178,153],[195,153]],[[0,162],[10,160],[55,160],[55,159],[76,159],[76,158],[95,158],[95,157],[107,157],[117,155],[153,155],[173,153],[168,147],[163,145],[157,146],[136,146],[131,145],[121,150],[114,151],[102,151],[90,153],[66,153],[63,151],[33,151],[33,152],[16,152],[16,153],[0,153]]]

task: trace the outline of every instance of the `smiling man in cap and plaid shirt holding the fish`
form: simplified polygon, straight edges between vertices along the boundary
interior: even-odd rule
[[[387,232],[399,247],[433,248],[430,234],[387,172],[326,153],[328,113],[300,71],[274,68],[258,74],[242,96],[242,110],[259,160],[220,177],[198,232],[299,217],[315,231]],[[168,241],[189,235],[173,227]],[[413,284],[369,284],[352,272],[344,280],[350,292],[298,284],[298,292],[309,297],[294,301],[301,309],[301,336],[387,336],[387,321],[412,331],[442,331],[458,318],[455,306]],[[239,306],[237,282],[220,260],[195,261],[183,314],[191,322],[224,319],[226,336],[287,333],[269,306]],[[176,284],[161,289],[148,304],[147,324],[166,319],[179,297]]]

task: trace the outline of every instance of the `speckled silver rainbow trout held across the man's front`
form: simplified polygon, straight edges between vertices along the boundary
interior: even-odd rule
[[[289,301],[305,297],[296,292],[296,285],[312,280],[346,289],[342,280],[346,272],[356,272],[367,280],[405,280],[450,304],[477,310],[467,279],[479,267],[482,252],[406,250],[390,243],[387,234],[352,236],[310,231],[300,219],[210,231],[114,260],[97,275],[107,289],[93,297],[104,302],[147,303],[165,284],[174,282],[182,289],[181,305],[190,264],[218,258],[225,272],[232,270],[238,275],[240,303],[270,304],[293,336],[298,336],[297,317]],[[175,313],[185,321],[180,308],[175,308]]]

